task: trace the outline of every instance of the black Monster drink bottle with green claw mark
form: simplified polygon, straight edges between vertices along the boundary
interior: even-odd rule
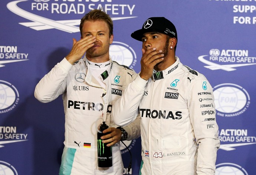
[[[105,121],[99,127],[99,131],[104,131],[108,128]],[[108,133],[106,133],[108,134]],[[101,136],[106,135],[103,133],[97,133],[97,145],[98,145],[98,166],[99,167],[111,167],[112,166],[112,147],[107,147],[106,143],[102,143]]]

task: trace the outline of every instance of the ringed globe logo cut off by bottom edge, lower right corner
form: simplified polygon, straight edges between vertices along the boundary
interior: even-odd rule
[[[232,163],[216,165],[215,175],[248,175],[242,166]]]

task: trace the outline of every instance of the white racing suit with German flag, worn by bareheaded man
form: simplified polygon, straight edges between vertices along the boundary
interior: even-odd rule
[[[117,127],[111,119],[112,104],[121,97],[136,73],[110,60],[101,74],[106,90],[92,76],[86,58],[71,65],[66,58],[36,85],[35,97],[40,102],[55,100],[60,94],[65,111],[65,148],[60,175],[122,175],[124,168],[120,142],[112,146],[113,166],[97,166],[97,131],[95,121],[103,118],[109,127]],[[99,124],[102,121],[99,120]],[[140,118],[124,127],[128,139],[140,137]]]

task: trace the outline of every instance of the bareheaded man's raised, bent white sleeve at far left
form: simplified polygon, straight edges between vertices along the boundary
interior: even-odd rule
[[[66,91],[66,77],[72,64],[64,58],[36,85],[35,97],[42,103],[50,102]]]

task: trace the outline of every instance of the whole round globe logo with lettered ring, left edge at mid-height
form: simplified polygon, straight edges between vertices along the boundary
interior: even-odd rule
[[[0,80],[0,114],[12,111],[19,100],[16,87],[7,81]]]

